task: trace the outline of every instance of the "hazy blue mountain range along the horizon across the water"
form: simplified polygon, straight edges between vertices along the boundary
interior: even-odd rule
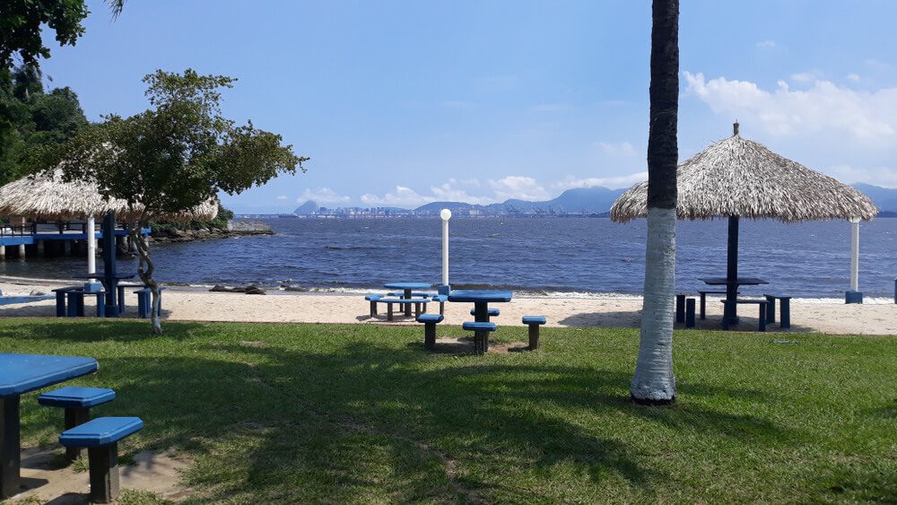
[[[897,189],[888,187],[878,187],[869,184],[855,184],[858,190],[869,196],[875,205],[882,212],[883,216],[897,215]],[[527,200],[509,199],[501,204],[476,205],[466,202],[432,202],[427,205],[421,205],[414,210],[414,213],[437,214],[442,209],[449,209],[453,213],[483,213],[483,214],[517,214],[517,213],[557,213],[557,214],[577,214],[577,213],[607,213],[614,201],[623,195],[626,189],[609,189],[607,187],[576,187],[564,191],[557,198],[545,200],[543,202],[530,202]],[[401,209],[397,207],[386,207],[386,210],[393,213],[408,212],[409,209]],[[294,212],[297,214],[309,214],[318,211],[318,205],[309,201],[300,205]],[[473,211],[473,212],[471,212]]]

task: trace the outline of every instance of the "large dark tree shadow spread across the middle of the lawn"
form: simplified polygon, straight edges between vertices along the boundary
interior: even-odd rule
[[[109,335],[97,327],[85,340],[85,324],[54,337]],[[190,329],[169,331],[188,338]],[[761,418],[699,403],[632,405],[628,374],[544,364],[535,354],[434,356],[370,341],[333,341],[315,351],[198,347],[197,357],[108,356],[102,376],[85,380],[118,392],[98,414],[144,418],[136,440],[196,455],[187,480],[209,488],[211,501],[557,501],[563,495],[553,493],[563,491],[543,484],[558,478],[649,492],[668,475],[645,465],[644,447],[627,441],[626,428],[597,422],[614,416],[655,434],[690,428],[799,443],[797,433]],[[56,429],[47,416],[31,424]]]

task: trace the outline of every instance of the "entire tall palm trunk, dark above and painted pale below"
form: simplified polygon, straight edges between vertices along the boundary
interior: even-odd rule
[[[639,361],[632,399],[640,404],[675,401],[673,306],[675,299],[676,126],[679,107],[679,1],[654,0],[651,28],[648,135],[648,247]]]

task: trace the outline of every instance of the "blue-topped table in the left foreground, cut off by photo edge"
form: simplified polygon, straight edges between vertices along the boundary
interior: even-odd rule
[[[93,358],[0,353],[0,500],[20,492],[20,396],[99,368]]]

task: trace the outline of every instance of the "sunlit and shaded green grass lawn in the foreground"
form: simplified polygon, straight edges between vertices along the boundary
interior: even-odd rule
[[[636,330],[477,357],[424,352],[421,327],[164,327],[5,319],[0,351],[96,357],[72,384],[144,418],[123,453],[193,459],[196,502],[897,501],[895,337],[677,332],[678,402],[643,407]],[[35,396],[25,442],[53,443]]]

